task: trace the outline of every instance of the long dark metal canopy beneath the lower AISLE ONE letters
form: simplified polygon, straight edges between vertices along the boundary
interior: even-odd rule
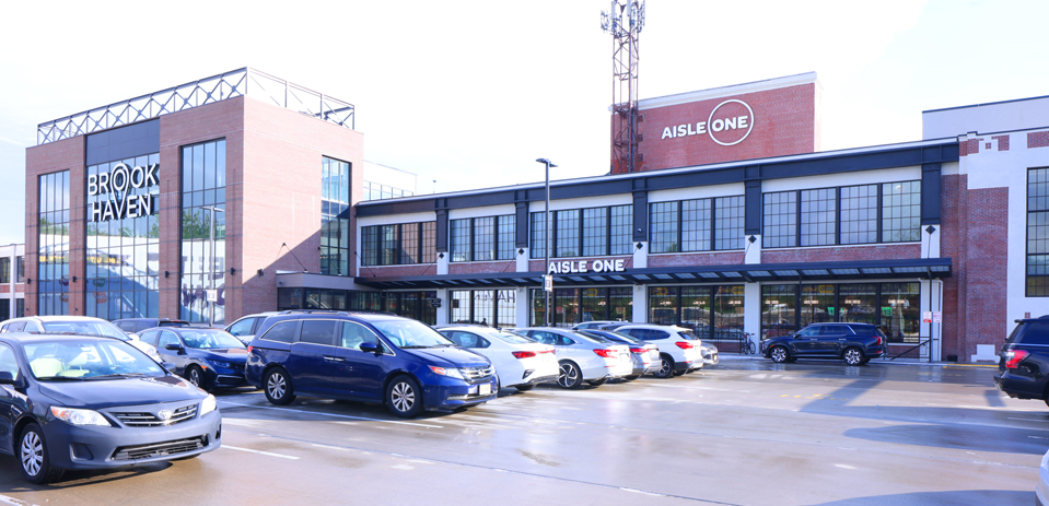
[[[561,286],[716,283],[729,282],[807,282],[862,281],[884,279],[942,279],[951,276],[949,258],[916,258],[904,260],[861,260],[847,262],[751,263],[734,266],[658,267],[627,269],[623,272],[571,273],[553,275],[553,284]],[[368,273],[368,268],[362,272]],[[541,286],[541,272],[492,272],[476,274],[361,276],[358,284],[378,290]]]

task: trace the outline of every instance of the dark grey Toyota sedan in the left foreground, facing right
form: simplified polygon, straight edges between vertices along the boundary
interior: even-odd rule
[[[0,334],[0,452],[28,482],[196,457],[221,427],[214,396],[126,339]]]

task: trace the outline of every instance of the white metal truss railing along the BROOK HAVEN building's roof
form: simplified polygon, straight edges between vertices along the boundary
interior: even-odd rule
[[[36,144],[85,136],[245,95],[351,130],[356,127],[352,104],[245,67],[43,122],[36,127]]]

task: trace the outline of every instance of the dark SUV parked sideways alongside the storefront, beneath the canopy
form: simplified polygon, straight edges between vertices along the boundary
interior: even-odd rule
[[[885,332],[871,323],[813,323],[793,334],[761,341],[761,354],[778,364],[832,358],[863,365],[885,354]]]

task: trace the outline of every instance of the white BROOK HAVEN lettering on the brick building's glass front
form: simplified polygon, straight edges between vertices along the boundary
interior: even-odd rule
[[[160,185],[156,179],[158,167],[159,164],[152,164],[130,168],[127,164],[120,163],[108,173],[89,175],[88,196],[106,193],[109,198],[88,204],[88,221],[105,222],[153,214],[153,210],[156,209],[155,195],[130,195],[128,190]],[[116,195],[120,197],[117,198]]]

